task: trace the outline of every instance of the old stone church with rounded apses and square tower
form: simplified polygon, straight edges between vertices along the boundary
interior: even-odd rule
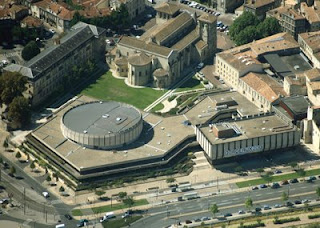
[[[213,57],[217,48],[213,15],[197,17],[173,3],[155,8],[156,25],[141,37],[123,36],[113,62],[115,75],[132,86],[167,88],[184,76],[186,67]]]

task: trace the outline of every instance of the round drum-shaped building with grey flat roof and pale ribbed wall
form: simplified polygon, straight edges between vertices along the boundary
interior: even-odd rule
[[[82,146],[113,149],[132,143],[143,128],[142,115],[133,106],[108,101],[80,104],[61,119],[63,135]]]

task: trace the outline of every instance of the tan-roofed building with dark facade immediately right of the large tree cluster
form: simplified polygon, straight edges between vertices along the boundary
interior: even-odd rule
[[[306,18],[292,6],[281,6],[267,12],[267,17],[278,20],[283,32],[290,33],[296,40],[298,34],[308,29]]]

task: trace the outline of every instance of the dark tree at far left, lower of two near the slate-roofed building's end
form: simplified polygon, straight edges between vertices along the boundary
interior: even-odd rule
[[[31,111],[29,102],[24,97],[15,97],[9,105],[8,119],[18,127],[23,127],[30,122]]]

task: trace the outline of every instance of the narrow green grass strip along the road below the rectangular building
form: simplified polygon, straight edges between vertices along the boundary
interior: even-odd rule
[[[306,177],[307,176],[315,176],[315,175],[319,175],[319,174],[320,174],[320,169],[306,170]],[[301,176],[299,176],[297,173],[277,175],[277,176],[272,176],[271,182],[290,180],[293,178],[301,178]],[[265,184],[265,183],[266,183],[266,181],[263,180],[262,178],[257,178],[257,179],[253,179],[253,180],[237,182],[236,184],[239,188],[244,188],[244,187],[255,186],[255,185]]]

